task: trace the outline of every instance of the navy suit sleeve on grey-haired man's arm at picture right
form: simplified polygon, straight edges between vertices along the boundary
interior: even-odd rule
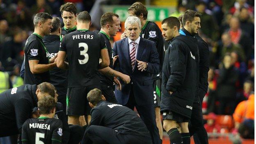
[[[147,72],[153,73],[153,74],[158,74],[160,72],[160,62],[159,62],[159,57],[158,57],[158,52],[155,47],[155,42],[153,43],[150,51],[150,58],[148,62],[148,67],[146,69]]]

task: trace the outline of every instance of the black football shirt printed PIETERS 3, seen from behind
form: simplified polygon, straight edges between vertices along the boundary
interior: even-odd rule
[[[69,62],[68,87],[100,85],[97,72],[104,48],[104,38],[89,30],[77,30],[62,39],[59,50],[66,52]]]

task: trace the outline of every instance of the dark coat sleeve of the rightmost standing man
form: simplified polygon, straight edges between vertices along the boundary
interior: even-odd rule
[[[199,88],[205,91],[208,89],[209,71],[209,48],[205,42],[199,42]]]

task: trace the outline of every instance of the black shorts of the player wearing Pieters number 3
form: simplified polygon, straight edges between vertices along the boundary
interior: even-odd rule
[[[66,114],[73,116],[89,115],[91,107],[87,101],[87,94],[91,89],[100,89],[99,85],[86,87],[68,87],[66,97]]]

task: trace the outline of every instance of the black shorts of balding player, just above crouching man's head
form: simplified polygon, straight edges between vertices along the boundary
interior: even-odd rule
[[[116,96],[114,95],[114,87],[101,85],[101,91],[106,101],[110,103],[117,103]]]

